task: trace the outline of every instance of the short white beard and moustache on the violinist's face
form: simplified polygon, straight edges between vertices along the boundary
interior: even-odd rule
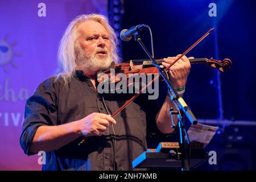
[[[84,72],[97,72],[110,67],[113,59],[108,52],[107,56],[97,56],[97,50],[90,54],[79,49],[79,55],[77,56],[77,67]]]

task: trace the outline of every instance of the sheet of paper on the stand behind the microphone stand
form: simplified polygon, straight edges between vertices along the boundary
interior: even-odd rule
[[[191,142],[192,148],[205,148],[210,140],[212,140],[218,127],[208,126],[197,123],[196,125],[191,125],[188,129],[188,136]]]

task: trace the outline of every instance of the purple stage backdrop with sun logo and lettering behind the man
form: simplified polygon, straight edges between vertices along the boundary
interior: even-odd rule
[[[57,49],[77,15],[107,15],[107,0],[0,1],[0,170],[38,170],[19,145],[24,104],[53,75]]]

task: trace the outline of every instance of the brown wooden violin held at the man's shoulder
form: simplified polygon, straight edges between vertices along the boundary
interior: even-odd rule
[[[162,65],[163,59],[156,60],[156,63],[160,66]],[[232,61],[228,58],[221,60],[214,60],[208,58],[195,58],[189,59],[191,64],[206,64],[209,67],[218,69],[220,72],[228,71],[232,66]],[[167,70],[168,72],[169,70]],[[114,75],[113,75],[114,73]],[[158,74],[158,69],[152,63],[151,60],[130,60],[126,63],[118,63],[110,65],[110,68],[106,69],[105,71],[100,71],[97,73],[97,81],[99,83],[105,81],[106,77],[108,77],[108,81],[110,83],[119,82],[122,80],[122,77],[118,76],[119,73],[123,73],[126,75],[126,78],[134,77],[133,74],[141,75],[153,75]],[[162,81],[163,79],[159,79]]]

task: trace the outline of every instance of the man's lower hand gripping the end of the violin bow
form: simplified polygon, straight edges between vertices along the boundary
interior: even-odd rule
[[[79,133],[84,137],[100,136],[109,127],[109,123],[117,123],[110,115],[92,113],[78,121]]]

